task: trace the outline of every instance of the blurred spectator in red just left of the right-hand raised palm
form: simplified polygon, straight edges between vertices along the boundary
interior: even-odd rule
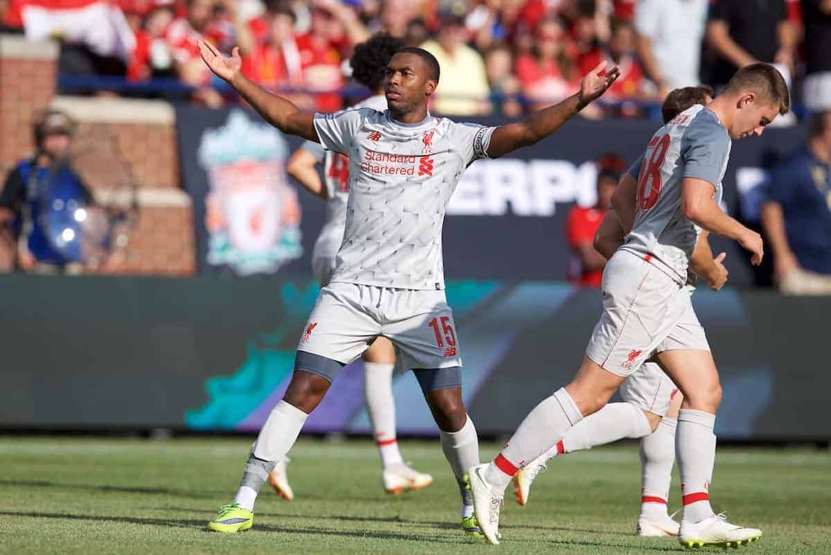
[[[559,19],[539,22],[534,39],[534,53],[520,56],[515,71],[524,96],[538,110],[576,92],[580,76]]]

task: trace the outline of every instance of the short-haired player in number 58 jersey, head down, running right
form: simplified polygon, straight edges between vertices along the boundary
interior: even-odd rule
[[[600,410],[627,376],[655,356],[684,394],[676,460],[684,505],[678,538],[687,547],[739,547],[760,538],[715,514],[709,487],[715,463],[715,411],[721,400],[710,346],[685,290],[701,230],[734,239],[762,259],[762,238],[721,211],[721,178],[731,140],[761,135],[788,111],[788,87],[774,66],[745,66],[706,107],[692,106],[657,130],[638,174],[634,214],[615,208],[627,242],[603,271],[603,312],[573,381],[525,417],[490,464],[470,470],[476,518],[499,543],[505,486],[520,467],[556,444],[584,416]]]

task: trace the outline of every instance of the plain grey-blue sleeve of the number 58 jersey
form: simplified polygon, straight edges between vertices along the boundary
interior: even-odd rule
[[[681,139],[682,177],[702,179],[718,188],[721,169],[729,153],[730,135],[727,135],[727,130],[718,121],[700,112]]]

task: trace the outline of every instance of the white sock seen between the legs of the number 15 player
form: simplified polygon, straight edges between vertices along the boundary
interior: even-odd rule
[[[386,469],[404,464],[396,439],[396,401],[392,397],[392,371],[395,365],[364,362],[364,395],[372,434]]]

